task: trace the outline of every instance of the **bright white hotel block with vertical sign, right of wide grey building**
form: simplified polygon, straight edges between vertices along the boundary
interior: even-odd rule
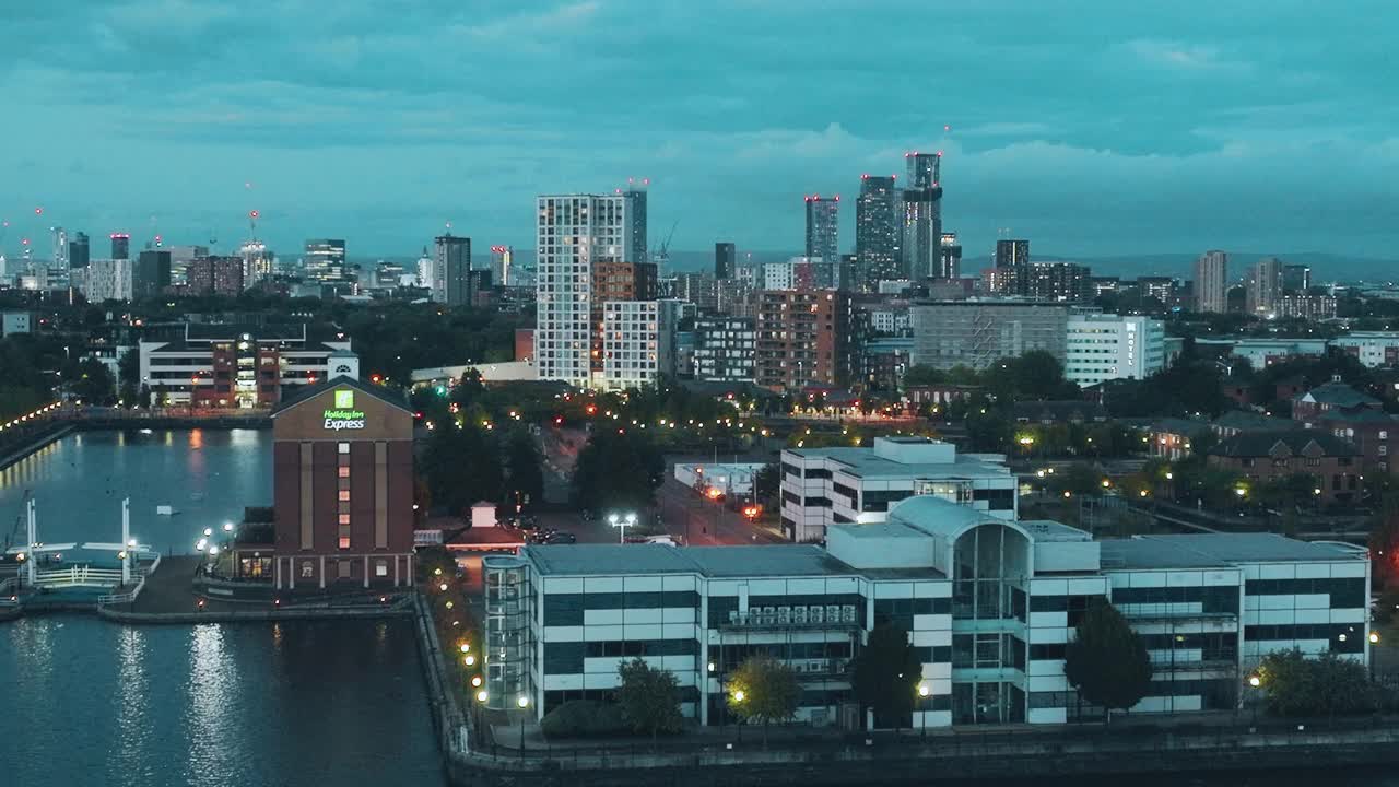
[[[1087,388],[1108,379],[1146,379],[1165,368],[1165,328],[1158,319],[1115,314],[1069,316],[1063,377]]]

